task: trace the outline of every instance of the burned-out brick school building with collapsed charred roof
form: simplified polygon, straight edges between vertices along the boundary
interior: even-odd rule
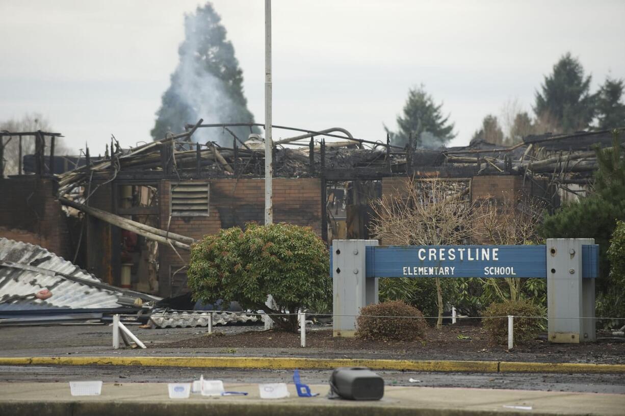
[[[194,240],[264,218],[264,145],[229,126],[200,122],[131,149],[112,141],[103,157],[87,150],[62,167],[52,139],[59,134],[32,132],[36,153],[18,175],[0,179],[9,196],[0,200],[0,236],[41,245],[106,284],[180,294]],[[198,128],[222,129],[232,146],[193,142]],[[591,146],[612,146],[608,131],[431,150],[344,129],[295,130],[303,134],[274,142],[274,221],[310,226],[326,242],[368,238],[371,202],[411,177],[457,183],[472,200],[523,192],[555,209],[591,182]]]

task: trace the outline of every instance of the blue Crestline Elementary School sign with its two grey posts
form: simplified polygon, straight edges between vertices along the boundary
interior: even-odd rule
[[[552,342],[596,340],[593,239],[548,239],[546,245],[389,245],[334,240],[330,269],[334,336],[352,337],[361,307],[377,303],[380,277],[523,277],[547,279]]]

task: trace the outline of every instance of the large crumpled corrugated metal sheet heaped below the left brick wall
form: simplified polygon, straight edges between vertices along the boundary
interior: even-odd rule
[[[58,275],[17,269],[2,262],[35,266],[72,277],[101,282],[94,275],[39,245],[0,238],[0,310],[120,307],[118,299],[122,294],[119,292],[89,287],[89,285],[73,282]],[[29,297],[3,302],[15,296],[33,294],[41,289],[49,289],[53,294],[52,297],[46,300]]]

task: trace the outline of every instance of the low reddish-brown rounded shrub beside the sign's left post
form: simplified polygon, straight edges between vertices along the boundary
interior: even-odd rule
[[[356,336],[364,339],[414,341],[424,335],[427,327],[421,311],[402,300],[367,305],[360,313]],[[392,318],[397,316],[410,318]]]

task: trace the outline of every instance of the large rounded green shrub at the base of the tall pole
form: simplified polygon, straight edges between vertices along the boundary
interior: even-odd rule
[[[332,301],[329,253],[310,227],[247,224],[207,235],[191,246],[187,275],[194,299],[204,303],[237,300],[265,310],[279,326],[297,330],[299,308]],[[271,294],[276,307],[265,305]]]

